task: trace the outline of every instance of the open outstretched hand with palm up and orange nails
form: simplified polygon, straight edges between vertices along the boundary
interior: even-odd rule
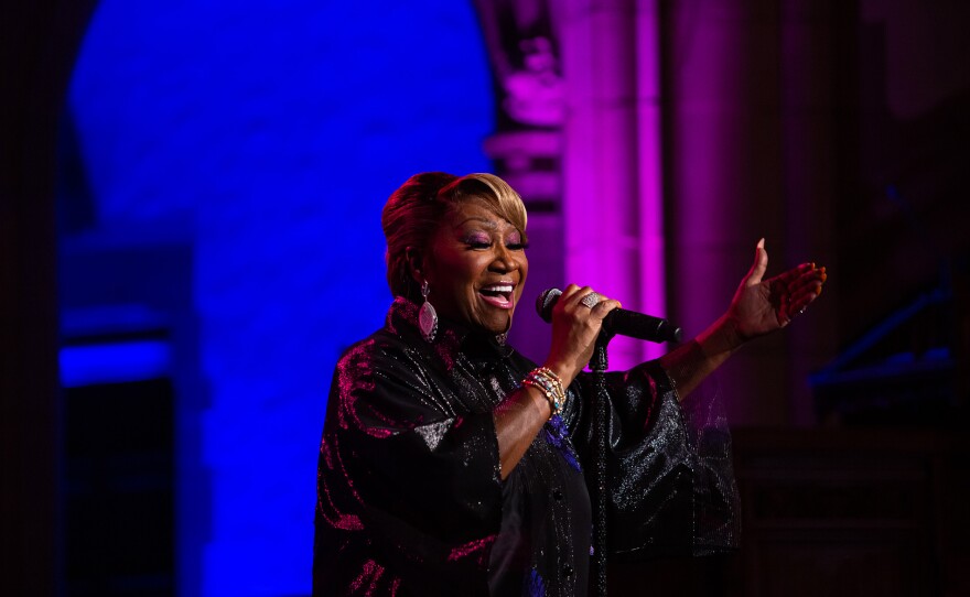
[[[818,298],[826,282],[826,269],[815,263],[802,263],[774,278],[763,280],[768,267],[765,239],[755,248],[751,271],[741,281],[728,319],[740,344],[780,329],[805,312]]]

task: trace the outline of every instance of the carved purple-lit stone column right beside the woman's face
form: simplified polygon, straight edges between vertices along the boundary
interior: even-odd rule
[[[522,196],[529,213],[529,279],[509,333],[524,355],[542,362],[549,325],[534,303],[563,274],[563,82],[556,14],[546,0],[476,0],[496,96],[496,131],[485,141],[495,172]]]

